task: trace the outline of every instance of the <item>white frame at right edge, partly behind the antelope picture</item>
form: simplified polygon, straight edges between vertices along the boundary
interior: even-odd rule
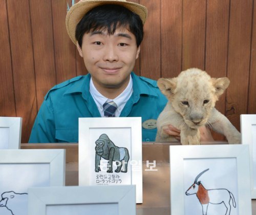
[[[249,145],[251,198],[256,199],[256,114],[240,115],[242,144]]]

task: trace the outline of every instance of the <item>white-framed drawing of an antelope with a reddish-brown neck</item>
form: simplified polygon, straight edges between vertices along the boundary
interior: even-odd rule
[[[175,215],[251,215],[249,147],[170,146],[170,202]]]

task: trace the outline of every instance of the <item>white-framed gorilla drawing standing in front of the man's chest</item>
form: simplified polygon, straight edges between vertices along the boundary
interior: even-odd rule
[[[79,118],[79,185],[130,184],[142,203],[141,117]]]

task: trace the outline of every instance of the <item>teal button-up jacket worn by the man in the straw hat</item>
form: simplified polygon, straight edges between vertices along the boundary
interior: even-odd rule
[[[133,94],[120,117],[142,118],[142,141],[155,141],[155,123],[167,99],[157,82],[132,73]],[[91,75],[78,76],[54,86],[38,111],[29,142],[78,142],[78,118],[100,117],[89,92]],[[150,120],[150,121],[148,121]]]

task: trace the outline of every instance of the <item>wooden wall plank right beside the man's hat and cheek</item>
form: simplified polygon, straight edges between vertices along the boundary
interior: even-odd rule
[[[140,74],[157,80],[161,75],[160,0],[140,0],[148,10],[144,25],[144,41],[141,45]]]

